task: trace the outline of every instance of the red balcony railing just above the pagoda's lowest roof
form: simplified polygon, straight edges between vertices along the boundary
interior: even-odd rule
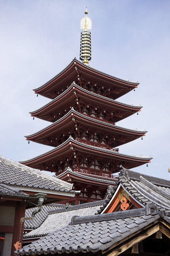
[[[90,167],[77,167],[77,168],[72,168],[72,171],[80,173],[80,174],[84,174],[87,176],[91,176],[91,177],[99,177],[99,178],[103,178],[103,179],[107,179],[107,180],[118,180],[118,176],[108,173],[107,171],[96,171],[91,169]]]

